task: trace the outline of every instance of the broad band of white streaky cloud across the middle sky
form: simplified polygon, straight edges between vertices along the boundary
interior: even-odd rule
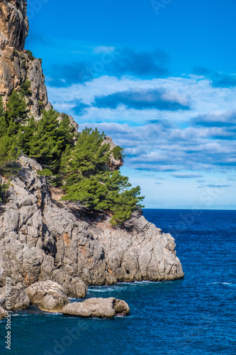
[[[93,107],[97,96],[159,88],[164,89],[170,101],[191,102],[191,110],[127,109],[124,105],[117,109]],[[223,171],[235,163],[236,143],[230,138],[233,131],[211,123],[230,121],[236,111],[236,88],[212,87],[209,80],[197,76],[153,80],[103,76],[86,84],[49,87],[48,91],[55,109],[72,114],[80,129],[97,127],[123,146],[128,155],[125,165],[130,168],[189,170],[194,175],[196,170]],[[73,109],[81,101],[90,106],[76,116]]]

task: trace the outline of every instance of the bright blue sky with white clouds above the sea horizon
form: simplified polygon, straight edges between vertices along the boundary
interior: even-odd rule
[[[235,0],[29,0],[49,99],[125,148],[150,208],[235,209]]]

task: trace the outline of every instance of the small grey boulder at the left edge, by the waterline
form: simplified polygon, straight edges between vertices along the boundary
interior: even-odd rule
[[[9,297],[10,295],[10,297]],[[6,297],[7,300],[7,310],[25,310],[30,304],[30,299],[26,295],[26,291],[23,286],[16,285],[9,287],[9,293],[6,294],[6,288],[0,288],[0,306],[6,309]]]

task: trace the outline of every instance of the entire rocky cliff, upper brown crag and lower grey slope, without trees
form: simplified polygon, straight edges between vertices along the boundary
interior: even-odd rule
[[[0,0],[0,94],[30,82],[29,105],[35,119],[50,107],[40,60],[23,50],[28,34],[25,0]],[[72,124],[78,128],[73,119]],[[110,143],[111,138],[106,138]],[[111,157],[111,170],[123,160]],[[26,155],[18,173],[7,180],[9,190],[0,203],[0,286],[6,278],[28,288],[52,280],[67,296],[84,297],[86,285],[118,281],[175,280],[184,276],[174,239],[162,234],[142,213],[123,226],[111,226],[111,216],[62,202],[62,191],[38,175],[42,167]]]

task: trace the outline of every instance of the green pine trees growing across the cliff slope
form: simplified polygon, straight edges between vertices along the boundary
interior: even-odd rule
[[[39,175],[64,190],[63,200],[79,201],[94,210],[110,211],[112,224],[122,224],[142,207],[140,187],[131,188],[120,171],[109,171],[109,144],[97,129],[75,132],[69,117],[54,109],[43,111],[36,122],[30,116],[26,99],[28,84],[13,91],[6,109],[0,100],[0,173],[11,168],[21,152],[43,166]],[[114,158],[123,158],[123,148],[113,148]],[[1,196],[0,196],[1,197]]]

